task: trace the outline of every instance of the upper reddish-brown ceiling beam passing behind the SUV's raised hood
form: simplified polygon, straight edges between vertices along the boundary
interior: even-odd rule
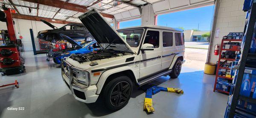
[[[61,0],[23,0],[23,1],[38,3],[42,5],[47,5],[47,6],[53,6],[61,9],[67,9],[67,10],[72,10],[72,11],[82,12],[82,13],[88,11],[86,6],[80,6],[77,4],[68,3]],[[105,14],[105,13],[101,13],[101,14],[104,17],[114,18],[114,16],[111,14]]]

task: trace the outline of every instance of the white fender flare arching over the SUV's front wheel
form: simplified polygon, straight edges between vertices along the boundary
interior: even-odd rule
[[[102,90],[102,88],[105,84],[105,81],[107,80],[107,78],[110,75],[115,74],[117,72],[122,72],[122,71],[125,71],[125,70],[131,70],[133,72],[133,75],[134,75],[134,71],[130,66],[122,66],[122,67],[119,67],[119,68],[110,69],[110,70],[107,70],[107,71],[103,72],[102,75],[99,78],[98,83],[96,84],[96,86],[97,86],[96,94],[100,94],[100,92],[101,92],[101,90]],[[137,79],[136,79],[135,75],[134,75],[134,77],[135,77],[135,80],[137,82]]]

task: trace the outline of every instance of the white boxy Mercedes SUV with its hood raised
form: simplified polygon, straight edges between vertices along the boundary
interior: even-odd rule
[[[105,106],[115,111],[128,103],[133,85],[180,75],[183,30],[138,26],[116,31],[94,9],[79,19],[102,49],[61,61],[63,81],[77,100],[93,103],[102,96]]]

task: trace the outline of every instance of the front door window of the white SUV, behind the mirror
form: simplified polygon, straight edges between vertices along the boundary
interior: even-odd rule
[[[144,44],[145,43],[152,44],[152,45],[154,45],[154,48],[158,48],[159,47],[159,32],[148,30],[148,32],[145,36]]]

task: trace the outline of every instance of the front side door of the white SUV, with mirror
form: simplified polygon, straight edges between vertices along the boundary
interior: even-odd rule
[[[147,29],[142,45],[145,43],[152,44],[154,50],[140,52],[140,78],[147,78],[161,71],[162,46],[160,45],[160,30]]]

